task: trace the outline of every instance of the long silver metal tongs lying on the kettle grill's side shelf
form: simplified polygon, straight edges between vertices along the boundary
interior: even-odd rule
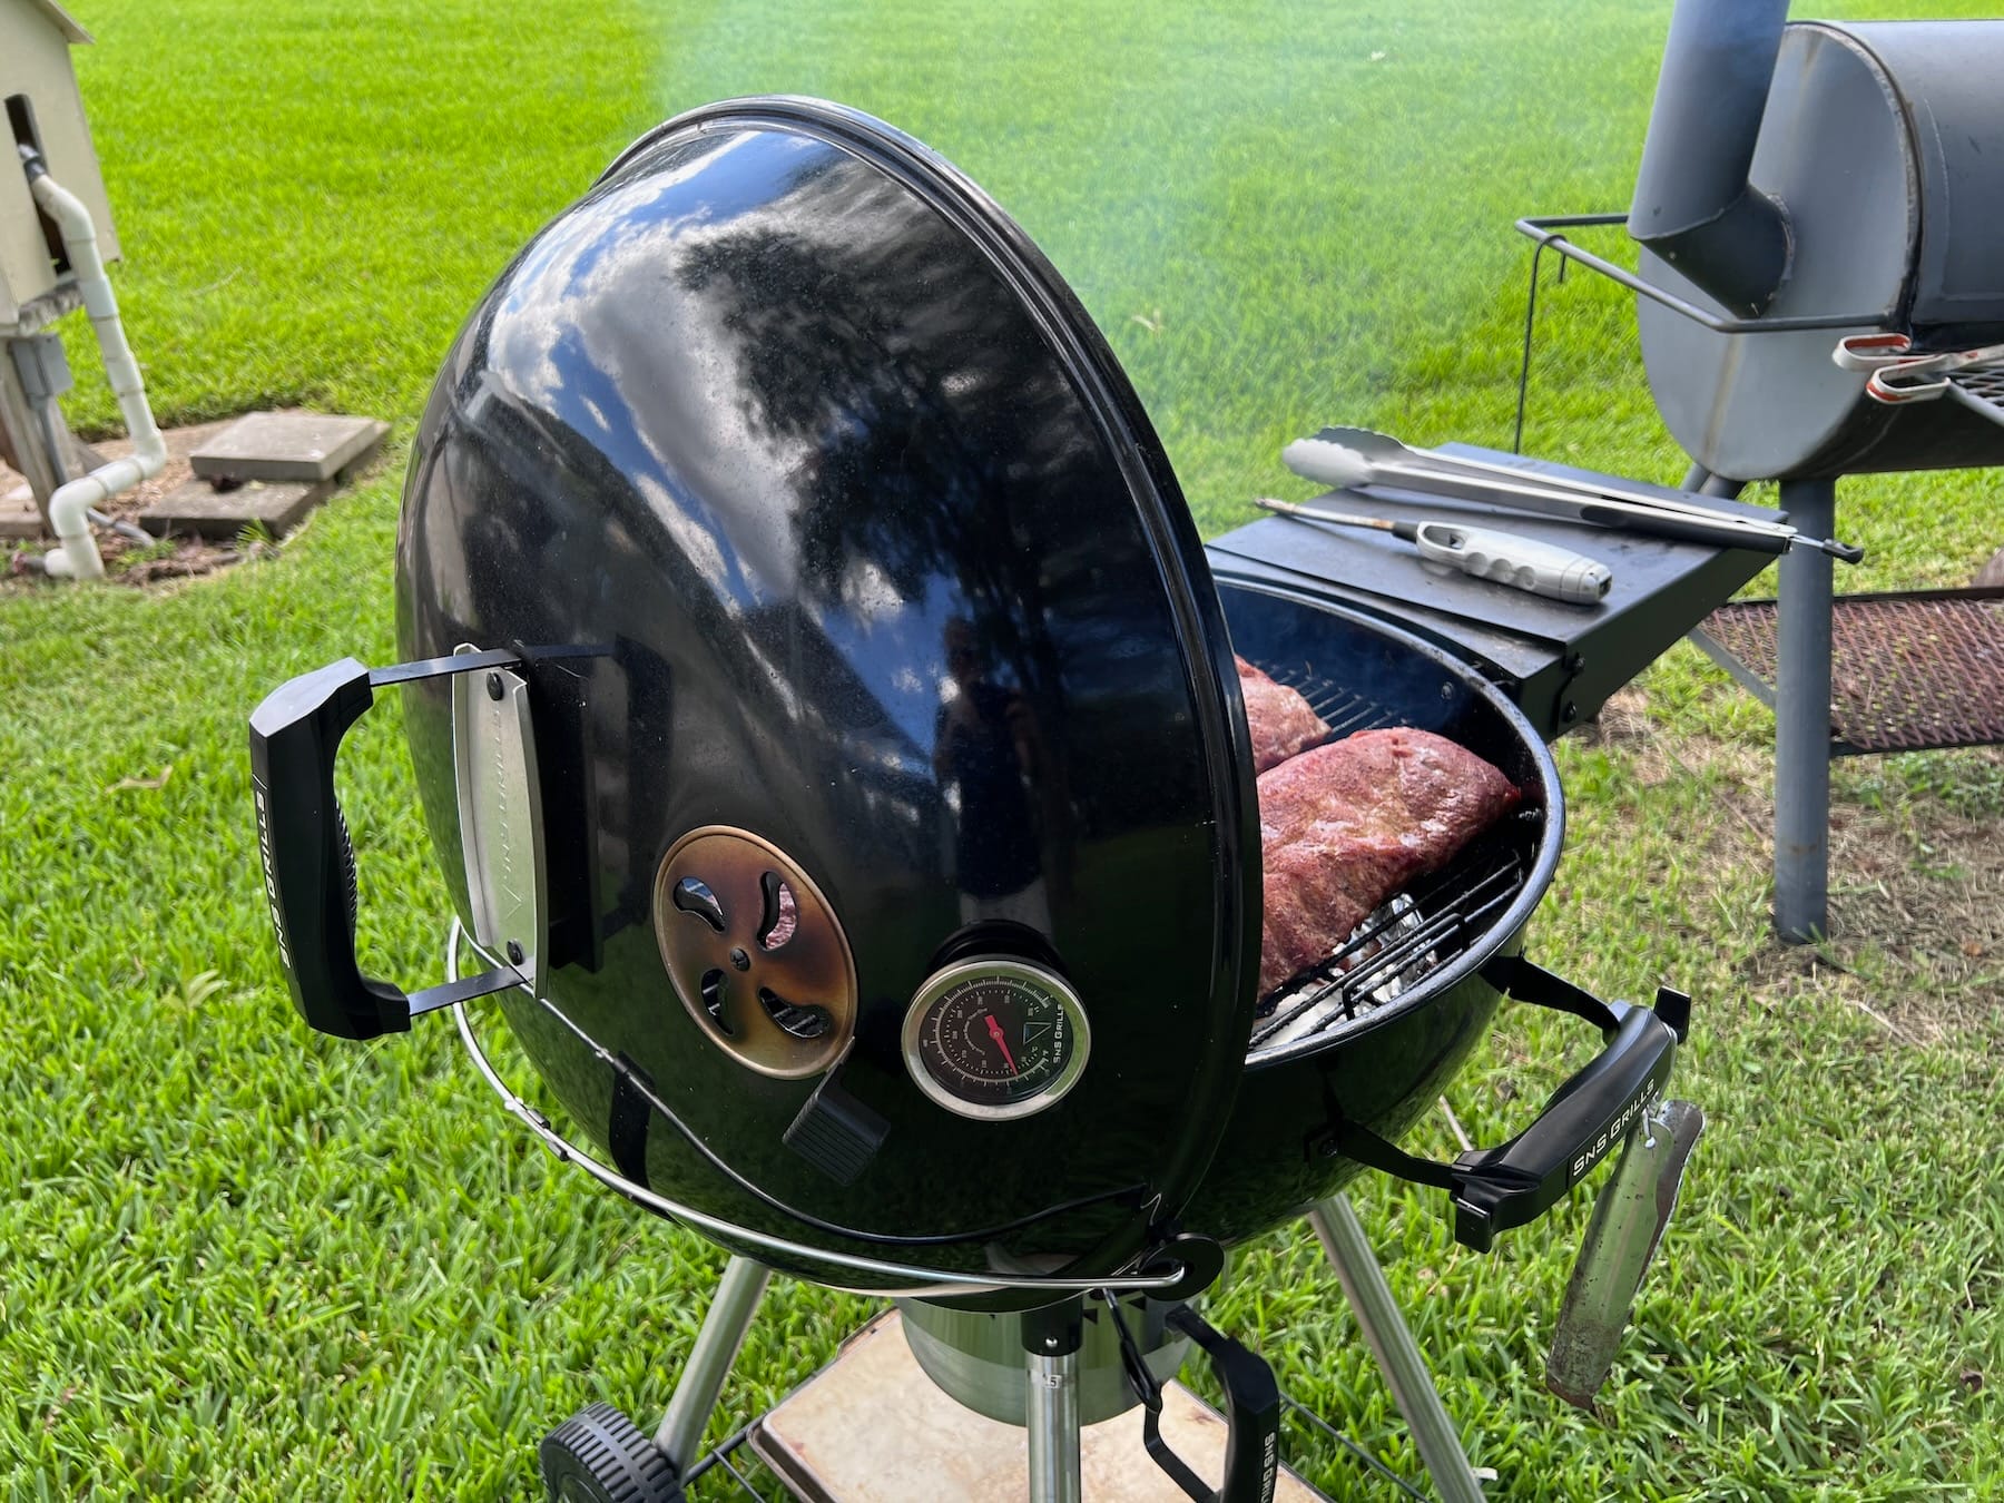
[[[1331,487],[1397,485],[1459,501],[1507,503],[1519,511],[1569,517],[1595,527],[1681,537],[1756,553],[1814,547],[1846,563],[1858,563],[1866,555],[1862,547],[1834,537],[1810,537],[1788,523],[1731,517],[1695,501],[1673,501],[1647,491],[1587,485],[1559,475],[1531,475],[1509,465],[1411,449],[1389,433],[1371,429],[1323,429],[1313,439],[1287,445],[1281,461],[1303,479]]]

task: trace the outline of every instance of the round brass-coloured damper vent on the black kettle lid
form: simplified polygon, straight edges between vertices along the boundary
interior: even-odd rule
[[[826,1070],[856,1030],[856,960],[836,910],[778,846],[703,826],[653,880],[653,932],[675,996],[741,1064]]]

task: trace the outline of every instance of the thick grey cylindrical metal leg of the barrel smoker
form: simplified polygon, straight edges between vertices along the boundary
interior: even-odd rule
[[[1838,529],[1836,481],[1782,481],[1782,509],[1810,537]],[[1830,555],[1782,555],[1774,725],[1774,926],[1796,944],[1828,932]]]

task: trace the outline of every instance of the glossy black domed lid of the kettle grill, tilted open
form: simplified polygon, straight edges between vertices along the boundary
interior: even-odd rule
[[[551,998],[768,1196],[868,1232],[824,1244],[910,1259],[872,1238],[926,1234],[964,1267],[1112,1267],[1190,1194],[1259,960],[1230,643],[1112,351],[940,156],[800,98],[635,142],[447,361],[405,497],[399,635],[407,657],[605,649],[571,752],[603,960],[559,966]],[[415,689],[407,725],[457,882],[443,697]],[[669,990],[651,882],[709,826],[784,850],[846,930],[842,1086],[888,1122],[848,1188],[780,1148],[816,1080],[745,1072]],[[1094,1038],[1078,1088],[1006,1128],[928,1104],[896,1044],[940,946],[992,920],[1040,932]],[[515,1022],[603,1122],[593,1060]],[[647,1154],[657,1188],[804,1234],[677,1134]],[[1086,1208],[1046,1214],[1066,1202]]]

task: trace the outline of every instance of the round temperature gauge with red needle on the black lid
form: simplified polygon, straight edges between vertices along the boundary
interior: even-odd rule
[[[960,1116],[1030,1116],[1086,1068],[1092,1032],[1078,994],[1042,966],[1004,956],[934,972],[904,1014],[918,1088]]]

